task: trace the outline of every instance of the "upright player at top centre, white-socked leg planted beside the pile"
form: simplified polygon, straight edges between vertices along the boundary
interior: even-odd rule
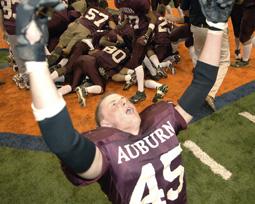
[[[115,6],[120,9],[124,22],[128,22],[134,29],[132,55],[127,67],[134,69],[136,73],[138,90],[130,101],[137,103],[146,98],[142,62],[146,54],[146,45],[154,31],[157,19],[150,8],[149,0],[115,0]]]

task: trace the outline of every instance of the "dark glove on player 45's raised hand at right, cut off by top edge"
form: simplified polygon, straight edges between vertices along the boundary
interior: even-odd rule
[[[235,0],[199,0],[207,21],[225,23],[232,11]]]

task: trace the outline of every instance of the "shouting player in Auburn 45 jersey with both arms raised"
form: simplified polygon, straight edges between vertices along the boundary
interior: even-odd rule
[[[61,5],[58,0],[20,4],[17,50],[26,60],[33,113],[43,139],[74,185],[98,182],[114,204],[187,202],[182,148],[176,135],[199,111],[215,82],[233,1],[201,1],[210,29],[179,105],[160,102],[139,114],[125,97],[108,94],[96,110],[98,128],[83,134],[74,129],[66,103],[50,78],[43,52],[47,17],[36,12],[38,7],[60,9]]]

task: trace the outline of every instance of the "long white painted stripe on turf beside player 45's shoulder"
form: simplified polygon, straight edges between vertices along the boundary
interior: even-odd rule
[[[183,145],[189,149],[202,163],[207,165],[213,173],[220,175],[224,180],[230,179],[232,173],[206,154],[195,142],[186,140]]]

